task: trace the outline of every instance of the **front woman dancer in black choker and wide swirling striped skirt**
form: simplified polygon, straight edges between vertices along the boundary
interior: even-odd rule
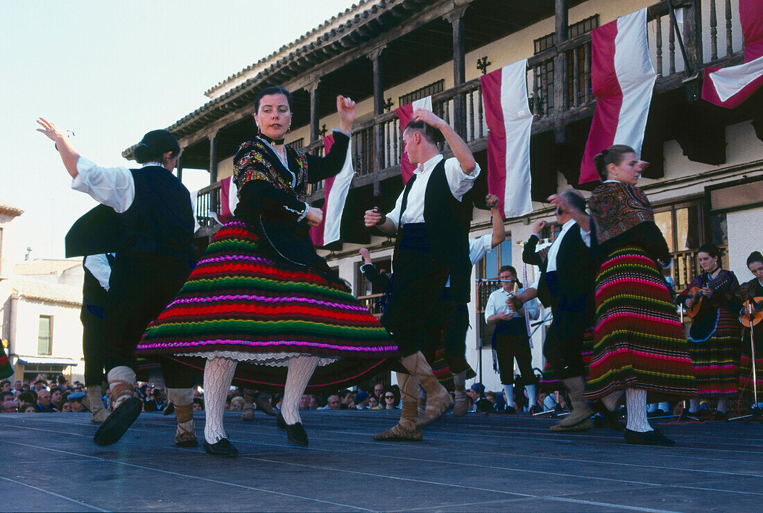
[[[237,455],[222,420],[240,362],[240,371],[255,377],[273,374],[273,367],[288,368],[277,424],[289,441],[305,446],[298,402],[316,367],[327,366],[324,374],[331,379],[325,383],[336,390],[345,377],[362,380],[363,373],[397,353],[388,332],[316,255],[309,235],[322,214],[304,203],[307,183],[340,171],[355,102],[336,98],[340,130],[324,158],[284,145],[291,124],[291,95],[284,88],[263,89],[254,107],[259,134],[243,143],[233,160],[240,197],[235,216],[217,232],[137,348],[139,354],[207,359],[204,448],[213,456]],[[349,363],[337,362],[348,357]],[[250,380],[247,386],[274,388],[283,386],[283,378]]]

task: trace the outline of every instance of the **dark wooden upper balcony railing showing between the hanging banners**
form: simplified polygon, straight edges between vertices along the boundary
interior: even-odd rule
[[[692,0],[674,0],[673,5],[683,20],[679,27],[693,73],[699,72],[708,63],[726,65],[738,57],[741,62],[739,50],[742,50],[742,34],[735,28],[740,26],[738,0],[705,0],[701,2],[700,15],[695,15],[697,2]],[[657,89],[678,87],[684,78],[681,76],[685,71],[684,59],[678,47],[674,24],[670,22],[668,2],[658,2],[649,8],[647,30],[649,52],[658,73]],[[697,62],[700,53],[702,63]],[[732,59],[729,60],[729,57]],[[561,87],[557,85],[560,81]],[[565,114],[590,115],[581,109],[590,111],[595,101],[591,88],[591,33],[572,37],[531,56],[527,66],[527,85],[530,110],[535,115],[535,121],[540,122],[533,130],[549,130],[555,123],[563,123]],[[459,101],[465,106],[465,126],[462,129],[466,142],[484,139],[488,135],[488,127],[479,79],[432,96],[435,113],[449,123],[454,118],[456,98],[460,98]],[[385,112],[356,123],[351,144],[353,165],[359,178],[399,165],[403,141],[395,112]],[[324,155],[324,145],[320,139],[301,149]],[[219,188],[211,186],[199,191],[198,212],[208,212],[209,208],[219,205],[219,201],[215,203],[214,199],[202,197],[205,194],[219,194],[215,192],[217,190]],[[323,182],[311,184],[307,194],[316,199],[314,194],[323,190]],[[207,203],[202,207],[204,201]]]

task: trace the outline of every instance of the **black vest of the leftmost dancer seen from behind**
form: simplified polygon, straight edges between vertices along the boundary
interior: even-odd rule
[[[98,205],[66,234],[66,256],[99,253],[153,253],[192,258],[191,195],[159,166],[131,169],[135,199],[124,213]]]

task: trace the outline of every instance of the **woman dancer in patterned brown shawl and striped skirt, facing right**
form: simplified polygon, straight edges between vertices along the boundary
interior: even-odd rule
[[[668,245],[636,187],[646,162],[629,146],[605,149],[594,160],[601,180],[591,196],[597,255],[596,325],[586,396],[625,390],[629,444],[673,445],[646,419],[646,396],[694,396],[686,339],[662,268]],[[605,400],[613,409],[613,401]]]

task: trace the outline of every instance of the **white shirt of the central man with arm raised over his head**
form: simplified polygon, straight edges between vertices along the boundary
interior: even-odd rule
[[[403,218],[400,218],[400,211],[403,208],[403,195],[405,194],[405,188],[398,196],[398,200],[394,204],[394,209],[387,214],[387,218],[394,223],[394,227],[397,229],[401,224],[406,223],[423,223],[424,222],[424,196],[427,192],[427,184],[429,183],[432,170],[439,161],[443,160],[442,155],[437,155],[427,160],[423,164],[419,164],[414,175],[416,175],[416,181],[410,187],[410,193],[408,194],[407,205]],[[475,168],[471,175],[466,175],[459,164],[459,160],[455,157],[447,159],[445,161],[445,177],[450,187],[450,192],[456,200],[461,201],[469,189],[474,185],[475,180],[479,176],[479,165],[475,163]]]

